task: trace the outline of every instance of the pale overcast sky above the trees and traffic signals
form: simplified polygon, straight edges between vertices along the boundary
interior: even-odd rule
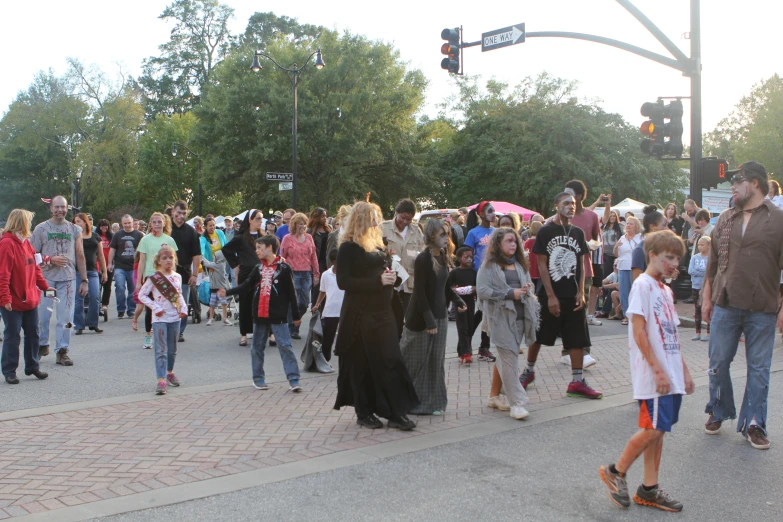
[[[6,49],[0,81],[0,107],[7,110],[38,70],[65,71],[65,59],[77,57],[112,71],[119,62],[138,75],[143,58],[155,55],[168,39],[171,24],[157,17],[166,0],[4,0],[0,3],[0,38]],[[666,54],[614,0],[495,0],[486,2],[354,0],[264,2],[226,0],[235,9],[233,33],[241,32],[256,11],[273,11],[340,31],[393,42],[403,60],[429,79],[425,112],[452,92],[440,69],[440,32],[463,25],[466,41],[482,32],[524,22],[528,32],[572,31],[623,40]],[[690,29],[688,0],[635,0],[680,48],[690,54],[684,33]],[[702,0],[703,128],[710,131],[731,112],[752,86],[783,72],[779,36],[783,8],[772,0]],[[443,7],[441,7],[443,6]],[[445,7],[445,6],[448,6]],[[329,56],[324,56],[329,64]],[[248,57],[248,63],[251,57]],[[690,94],[690,80],[663,65],[611,47],[556,38],[531,38],[505,49],[465,50],[465,72],[516,83],[549,71],[580,82],[578,95],[598,98],[603,108],[640,124],[639,108],[658,96]],[[313,71],[315,72],[315,71]],[[303,81],[306,79],[303,77]],[[686,104],[686,114],[688,105]],[[687,116],[686,116],[687,117]],[[688,133],[686,126],[686,136]],[[688,139],[683,141],[686,143]]]

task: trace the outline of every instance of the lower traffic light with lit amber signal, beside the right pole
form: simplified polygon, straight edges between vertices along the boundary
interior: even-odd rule
[[[647,136],[642,140],[642,152],[658,157],[682,156],[682,102],[647,102],[642,105],[641,112],[642,116],[649,118],[639,129]]]

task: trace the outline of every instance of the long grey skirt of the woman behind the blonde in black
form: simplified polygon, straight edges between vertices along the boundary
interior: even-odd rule
[[[448,399],[446,397],[446,371],[443,367],[446,357],[446,334],[448,318],[436,319],[438,333],[428,334],[427,330],[414,332],[407,327],[402,332],[400,352],[413,380],[413,387],[421,403],[410,413],[430,415],[443,412]]]

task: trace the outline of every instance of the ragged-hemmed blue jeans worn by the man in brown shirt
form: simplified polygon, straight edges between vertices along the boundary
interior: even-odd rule
[[[754,418],[764,433],[767,432],[767,396],[776,322],[774,313],[752,312],[733,306],[715,305],[712,312],[710,368],[707,370],[710,377],[710,401],[705,413],[711,413],[714,420],[737,418],[729,368],[737,354],[740,335],[744,332],[748,378],[737,421],[737,431],[743,435],[747,434],[750,421]]]

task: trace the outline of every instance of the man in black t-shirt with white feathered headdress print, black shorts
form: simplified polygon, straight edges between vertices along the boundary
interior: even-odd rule
[[[530,345],[527,368],[519,380],[525,388],[535,380],[535,364],[541,345],[553,346],[559,336],[563,339],[563,348],[571,356],[568,396],[600,399],[601,392],[588,386],[582,375],[584,348],[590,346],[584,273],[584,256],[590,255],[590,250],[582,229],[571,223],[576,210],[574,196],[567,192],[558,194],[555,209],[557,215],[541,227],[533,245],[543,283],[538,292],[541,327],[536,333],[536,342]]]

